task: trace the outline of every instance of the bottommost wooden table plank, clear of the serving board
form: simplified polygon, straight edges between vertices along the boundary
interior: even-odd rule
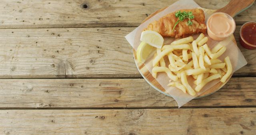
[[[33,135],[253,135],[256,108],[0,110],[0,131]]]

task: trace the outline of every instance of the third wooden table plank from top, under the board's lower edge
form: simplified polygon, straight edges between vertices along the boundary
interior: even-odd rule
[[[0,109],[177,108],[144,79],[0,79]],[[231,78],[183,107],[256,107],[256,78]]]

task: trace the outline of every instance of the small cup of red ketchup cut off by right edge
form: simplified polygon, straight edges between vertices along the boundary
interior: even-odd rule
[[[256,49],[256,22],[246,22],[241,27],[240,44],[246,49]]]

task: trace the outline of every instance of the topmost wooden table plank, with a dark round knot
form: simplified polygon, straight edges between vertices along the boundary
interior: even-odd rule
[[[177,0],[2,0],[0,28],[130,27]],[[201,7],[219,9],[230,0],[195,0]],[[84,3],[85,2],[85,3]],[[87,4],[88,8],[82,8]],[[235,18],[254,21],[256,5]]]

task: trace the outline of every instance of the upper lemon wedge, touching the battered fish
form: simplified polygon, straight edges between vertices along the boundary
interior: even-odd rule
[[[141,33],[140,41],[146,42],[156,48],[162,48],[164,38],[158,32],[145,30]]]

